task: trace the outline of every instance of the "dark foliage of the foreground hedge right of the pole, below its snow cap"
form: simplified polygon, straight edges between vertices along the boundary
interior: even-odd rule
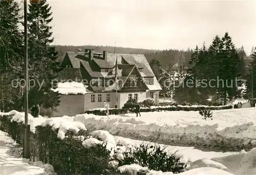
[[[69,130],[65,138],[58,138],[58,129],[50,126],[37,126],[36,135],[40,147],[41,161],[53,165],[58,174],[109,174],[112,167],[110,151],[105,144],[83,146],[88,131]]]

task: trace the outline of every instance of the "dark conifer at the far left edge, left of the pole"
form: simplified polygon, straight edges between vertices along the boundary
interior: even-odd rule
[[[12,109],[18,94],[11,82],[23,65],[23,37],[19,30],[22,16],[19,14],[17,2],[0,1],[0,110]]]

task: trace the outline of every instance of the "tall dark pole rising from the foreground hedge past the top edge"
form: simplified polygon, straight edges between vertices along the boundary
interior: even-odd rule
[[[23,139],[23,157],[30,159],[30,125],[28,124],[28,4],[27,0],[24,0],[24,62],[25,62],[25,124],[24,124],[24,139]]]

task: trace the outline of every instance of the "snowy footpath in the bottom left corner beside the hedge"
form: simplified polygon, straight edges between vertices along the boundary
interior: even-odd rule
[[[16,143],[7,133],[0,131],[0,175],[42,175],[45,169],[32,166],[28,160],[12,155]]]

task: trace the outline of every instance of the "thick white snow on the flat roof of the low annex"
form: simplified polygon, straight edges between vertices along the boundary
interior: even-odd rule
[[[86,94],[86,87],[82,83],[78,82],[65,82],[65,83],[58,83],[58,87],[56,89],[52,89],[55,92],[59,92],[63,95],[70,95],[70,94]]]

